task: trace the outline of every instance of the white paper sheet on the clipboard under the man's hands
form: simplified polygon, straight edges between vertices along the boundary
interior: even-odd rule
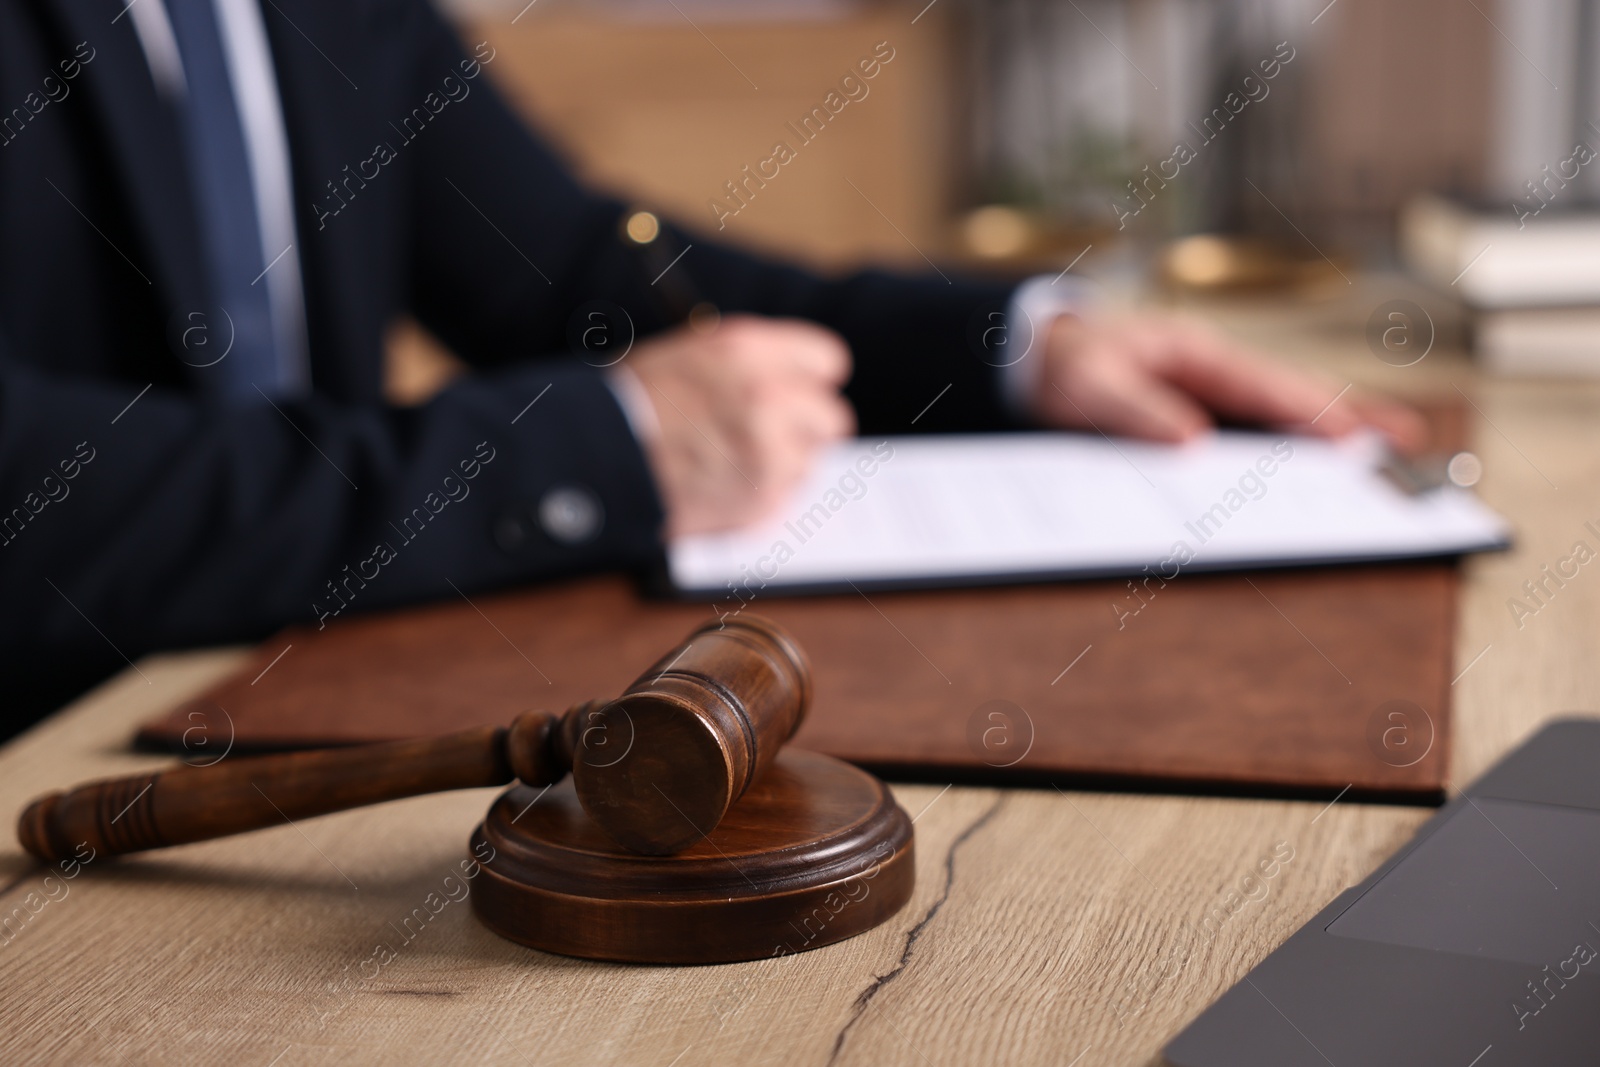
[[[1082,434],[890,437],[829,450],[768,522],[682,537],[688,593],[1400,560],[1499,549],[1477,496],[1406,496],[1376,435],[1218,432],[1189,445]]]

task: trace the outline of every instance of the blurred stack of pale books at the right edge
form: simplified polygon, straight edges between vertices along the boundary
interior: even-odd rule
[[[1400,213],[1400,256],[1466,307],[1486,370],[1600,378],[1600,206],[1421,197]]]

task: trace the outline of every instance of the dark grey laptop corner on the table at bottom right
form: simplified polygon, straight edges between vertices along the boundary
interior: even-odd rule
[[[1558,720],[1165,1049],[1170,1067],[1600,1064],[1600,720]]]

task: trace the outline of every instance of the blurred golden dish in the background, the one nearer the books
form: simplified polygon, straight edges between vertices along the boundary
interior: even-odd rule
[[[1325,256],[1304,256],[1254,237],[1195,234],[1157,256],[1162,283],[1190,293],[1318,291],[1344,286],[1346,272]]]

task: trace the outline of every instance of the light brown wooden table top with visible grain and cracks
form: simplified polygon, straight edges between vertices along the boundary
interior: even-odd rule
[[[1443,350],[1384,366],[1358,330],[1392,290],[1363,280],[1309,309],[1213,310],[1341,382],[1461,387],[1480,408],[1480,490],[1518,544],[1466,566],[1453,753],[1466,782],[1544,720],[1600,707],[1600,569],[1520,627],[1507,608],[1541,563],[1579,539],[1600,545],[1582,530],[1600,520],[1600,387],[1483,382]],[[38,792],[165,763],[128,750],[136,725],[240,656],[146,659],[0,749],[0,1062],[1152,1064],[1429,814],[896,785],[918,816],[918,886],[894,920],[819,952],[685,969],[531,952],[480,928],[464,901],[402,936],[466,856],[491,790],[46,881],[13,814]],[[1274,856],[1291,857],[1243,896]],[[379,944],[395,955],[384,966]]]

